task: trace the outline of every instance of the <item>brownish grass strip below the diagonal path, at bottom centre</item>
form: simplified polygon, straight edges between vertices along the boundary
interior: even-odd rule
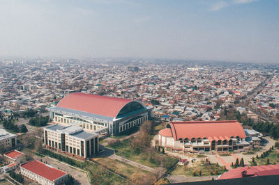
[[[112,170],[118,174],[121,174],[121,175],[127,177],[130,180],[132,180],[132,175],[135,173],[142,173],[146,176],[147,175],[154,176],[153,173],[151,173],[149,171],[142,170],[135,166],[131,166],[127,163],[123,163],[122,161],[113,160],[113,159],[110,159],[107,157],[97,158],[97,159],[94,159],[94,161],[96,161],[96,163],[99,163],[102,166],[105,166],[106,168],[109,168],[110,170]]]

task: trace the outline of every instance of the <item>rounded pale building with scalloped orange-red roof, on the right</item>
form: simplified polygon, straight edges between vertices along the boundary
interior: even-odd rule
[[[159,131],[158,144],[185,152],[245,150],[260,144],[260,139],[248,138],[237,120],[169,122]]]

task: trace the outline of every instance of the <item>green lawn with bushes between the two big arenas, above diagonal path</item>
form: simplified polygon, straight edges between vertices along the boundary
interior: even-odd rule
[[[174,166],[178,159],[174,159],[169,156],[157,154],[156,152],[133,152],[132,148],[130,147],[130,143],[133,139],[136,138],[129,138],[123,140],[121,142],[112,143],[107,145],[107,147],[111,147],[115,150],[116,154],[119,156],[123,156],[126,159],[130,159],[131,161],[135,161],[137,163],[142,163],[145,166],[149,166],[151,168],[160,167],[162,162],[163,167],[169,170]]]

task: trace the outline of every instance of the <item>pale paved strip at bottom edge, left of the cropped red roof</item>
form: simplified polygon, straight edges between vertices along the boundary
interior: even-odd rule
[[[186,177],[185,175],[169,175],[170,183],[181,183],[181,182],[199,182],[199,181],[210,181],[216,179],[218,176],[206,176],[206,177]]]

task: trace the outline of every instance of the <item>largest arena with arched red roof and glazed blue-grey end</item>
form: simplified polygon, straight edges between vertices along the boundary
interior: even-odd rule
[[[132,99],[72,93],[50,108],[52,122],[116,135],[149,119],[150,107]]]

